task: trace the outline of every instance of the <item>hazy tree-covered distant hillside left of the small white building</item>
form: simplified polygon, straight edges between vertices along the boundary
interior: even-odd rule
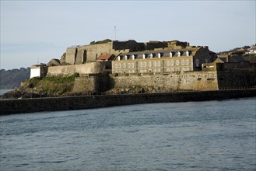
[[[0,70],[0,89],[15,89],[20,82],[30,79],[30,68]]]

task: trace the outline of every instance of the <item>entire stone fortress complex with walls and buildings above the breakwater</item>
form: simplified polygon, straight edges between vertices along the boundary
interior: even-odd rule
[[[30,78],[75,72],[80,75],[73,90],[78,94],[113,89],[138,93],[256,86],[255,63],[244,60],[241,54],[218,56],[207,46],[195,47],[177,40],[102,40],[68,47],[60,60],[33,65]]]

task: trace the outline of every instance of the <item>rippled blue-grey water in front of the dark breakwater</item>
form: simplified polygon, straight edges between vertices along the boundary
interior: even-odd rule
[[[0,117],[1,170],[255,170],[256,99]]]

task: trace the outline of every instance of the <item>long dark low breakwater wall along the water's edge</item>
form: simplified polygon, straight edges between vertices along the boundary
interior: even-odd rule
[[[36,99],[2,99],[0,114],[32,113],[56,110],[82,110],[139,103],[171,103],[233,99],[256,96],[256,89],[231,89],[198,92],[167,92],[121,95],[68,96]]]

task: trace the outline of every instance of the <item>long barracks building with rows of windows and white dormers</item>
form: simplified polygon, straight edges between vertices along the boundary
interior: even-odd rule
[[[160,73],[201,71],[212,62],[208,47],[163,48],[121,53],[112,61],[112,73]]]

